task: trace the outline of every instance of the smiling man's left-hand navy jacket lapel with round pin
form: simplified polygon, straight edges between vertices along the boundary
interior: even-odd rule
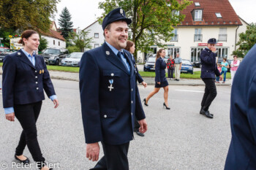
[[[113,53],[113,51],[108,47],[106,43],[103,45],[103,49],[106,55],[106,58],[108,61],[113,63],[113,65],[117,66],[119,69],[123,70],[126,74],[129,74],[127,71],[127,68],[125,68],[124,63],[122,63],[116,56],[116,54]]]

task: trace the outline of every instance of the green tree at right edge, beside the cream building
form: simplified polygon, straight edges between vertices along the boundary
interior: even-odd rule
[[[232,55],[244,58],[246,53],[256,44],[256,23],[247,26],[245,33],[239,34],[238,49],[233,51]]]

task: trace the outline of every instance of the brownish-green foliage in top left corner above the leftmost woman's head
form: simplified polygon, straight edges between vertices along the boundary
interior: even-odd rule
[[[0,0],[0,27],[47,32],[59,0]]]

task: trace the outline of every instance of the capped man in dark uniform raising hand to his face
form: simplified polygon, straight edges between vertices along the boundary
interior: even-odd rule
[[[216,64],[216,43],[216,39],[209,39],[207,47],[202,51],[200,55],[202,64],[201,79],[206,84],[205,93],[201,103],[200,114],[206,115],[208,118],[214,117],[214,115],[212,115],[208,109],[211,105],[211,102],[217,96],[217,90],[214,82],[215,75],[219,76],[220,74]]]

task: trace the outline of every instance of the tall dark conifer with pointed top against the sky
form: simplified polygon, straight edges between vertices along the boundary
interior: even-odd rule
[[[64,9],[61,12],[61,15],[59,15],[61,18],[59,19],[59,26],[61,28],[59,31],[61,31],[61,35],[63,35],[64,39],[67,39],[69,36],[69,33],[72,32],[72,24],[73,22],[71,21],[71,15],[69,13],[69,10],[67,7],[64,7]]]

